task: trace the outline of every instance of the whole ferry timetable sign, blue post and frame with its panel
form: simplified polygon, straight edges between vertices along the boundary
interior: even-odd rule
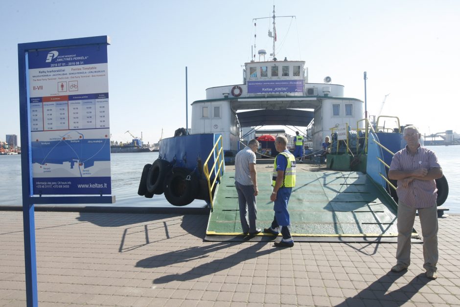
[[[107,36],[18,44],[27,306],[38,306],[34,204],[115,202],[108,44]]]

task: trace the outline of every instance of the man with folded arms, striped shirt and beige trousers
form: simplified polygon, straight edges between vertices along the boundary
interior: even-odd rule
[[[415,212],[418,211],[423,235],[423,267],[426,277],[437,278],[437,188],[435,179],[442,177],[437,156],[420,146],[420,133],[415,126],[403,131],[407,142],[404,149],[394,154],[388,178],[398,180],[398,247],[393,272],[406,270],[411,264],[411,233]]]

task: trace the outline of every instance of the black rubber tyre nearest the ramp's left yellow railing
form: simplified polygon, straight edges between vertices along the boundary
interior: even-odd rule
[[[190,174],[191,173],[191,174]],[[190,180],[186,180],[190,175]],[[183,167],[175,167],[166,175],[163,185],[164,197],[174,206],[191,203],[199,193],[199,182],[195,173]]]

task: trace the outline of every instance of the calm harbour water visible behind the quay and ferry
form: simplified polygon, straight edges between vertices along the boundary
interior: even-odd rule
[[[439,160],[449,183],[449,196],[443,206],[450,209],[446,213],[460,213],[460,146],[427,146]],[[164,195],[153,198],[138,196],[142,169],[146,163],[153,163],[158,153],[111,154],[112,195],[115,204],[103,206],[122,207],[173,207]],[[0,206],[21,205],[21,155],[0,155]],[[203,200],[195,200],[189,206],[203,207]],[[101,205],[102,206],[102,205]]]

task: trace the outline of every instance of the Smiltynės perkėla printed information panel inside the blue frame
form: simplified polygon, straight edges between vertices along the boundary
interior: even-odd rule
[[[28,52],[33,195],[111,194],[107,44]]]

